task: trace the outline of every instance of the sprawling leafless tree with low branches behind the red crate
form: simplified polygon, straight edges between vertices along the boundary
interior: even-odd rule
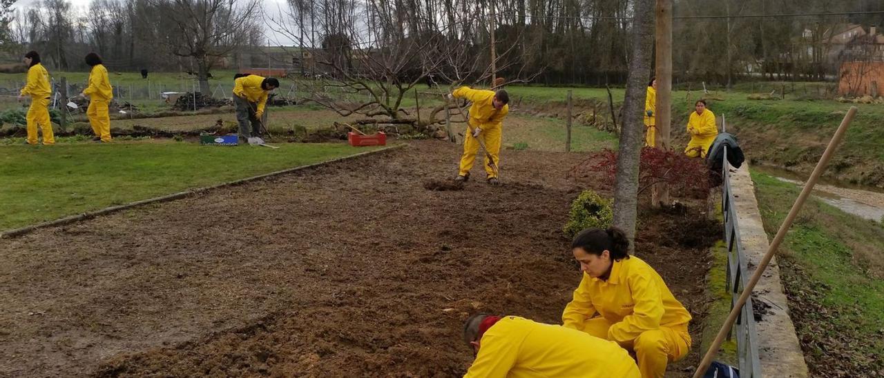
[[[459,0],[460,1],[460,0]],[[462,1],[442,6],[438,0],[426,2],[388,2],[370,0],[362,5],[346,0],[324,0],[312,7],[298,0],[289,3],[286,20],[272,20],[279,33],[314,49],[316,63],[328,79],[300,79],[300,87],[309,87],[309,101],[337,111],[340,115],[359,114],[386,117],[387,122],[414,123],[423,129],[444,123],[439,105],[420,123],[402,108],[407,95],[432,75],[434,80],[457,86],[483,82],[492,76],[487,31],[474,25],[487,25],[482,4]],[[446,17],[437,17],[441,9]],[[461,9],[459,12],[452,10]],[[314,19],[320,37],[314,38]],[[309,29],[309,33],[307,33]],[[509,82],[526,81],[537,72],[526,73],[526,65],[517,58],[524,47],[521,31],[513,26],[499,26],[499,34],[509,41],[499,49],[494,63],[499,71],[511,70]],[[297,60],[298,54],[293,57]],[[330,95],[329,89],[349,96]],[[439,92],[443,94],[443,92]],[[431,131],[431,130],[429,130]]]

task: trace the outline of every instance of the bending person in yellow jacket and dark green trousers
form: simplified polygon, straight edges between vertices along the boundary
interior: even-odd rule
[[[261,125],[267,119],[264,117],[267,94],[279,87],[279,80],[246,75],[233,81],[236,83],[233,86],[233,104],[236,105],[236,120],[240,123],[240,144],[246,140],[261,144]],[[248,127],[249,123],[252,124],[251,129]]]

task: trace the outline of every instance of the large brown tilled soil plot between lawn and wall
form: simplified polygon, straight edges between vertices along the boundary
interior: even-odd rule
[[[560,321],[580,279],[561,226],[583,155],[505,151],[505,185],[424,188],[456,173],[459,148],[415,141],[3,240],[0,375],[463,374],[468,314]],[[696,347],[719,229],[692,210],[642,216],[638,254],[694,314]]]

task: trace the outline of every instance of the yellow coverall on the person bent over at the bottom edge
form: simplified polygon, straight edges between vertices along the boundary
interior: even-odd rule
[[[558,325],[506,316],[485,331],[464,377],[638,378],[620,345]]]

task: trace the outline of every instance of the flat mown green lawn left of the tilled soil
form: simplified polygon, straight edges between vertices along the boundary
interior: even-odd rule
[[[346,144],[278,146],[159,140],[0,146],[0,230],[370,150]]]

